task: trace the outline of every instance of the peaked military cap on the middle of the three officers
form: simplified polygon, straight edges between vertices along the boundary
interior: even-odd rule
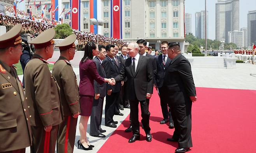
[[[53,45],[53,37],[55,36],[55,30],[53,28],[49,28],[43,31],[40,35],[38,35],[35,39],[30,40],[28,43],[34,44],[35,49],[40,49],[47,47],[49,45]]]

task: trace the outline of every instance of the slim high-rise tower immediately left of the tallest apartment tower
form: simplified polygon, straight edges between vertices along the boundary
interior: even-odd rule
[[[196,19],[196,38],[202,38],[205,39],[205,10],[202,10],[201,12],[195,13],[195,19]],[[206,32],[207,32],[207,38],[208,36],[208,11],[206,11]]]

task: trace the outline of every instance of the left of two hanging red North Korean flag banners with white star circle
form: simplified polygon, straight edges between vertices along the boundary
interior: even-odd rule
[[[71,4],[71,27],[80,30],[80,3],[81,0],[70,0]]]

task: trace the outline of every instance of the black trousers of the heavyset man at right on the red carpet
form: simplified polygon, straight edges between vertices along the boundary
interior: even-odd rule
[[[191,107],[192,102],[178,105],[170,104],[175,127],[172,138],[178,141],[181,148],[192,147]]]

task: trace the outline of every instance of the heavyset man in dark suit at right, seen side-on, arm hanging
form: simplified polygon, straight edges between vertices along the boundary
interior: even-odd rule
[[[161,98],[168,101],[174,120],[175,131],[168,141],[176,141],[179,148],[175,152],[184,153],[192,147],[191,138],[191,106],[195,102],[196,88],[191,66],[184,56],[178,42],[170,42],[168,57],[172,59],[165,68],[164,84],[161,87]]]

